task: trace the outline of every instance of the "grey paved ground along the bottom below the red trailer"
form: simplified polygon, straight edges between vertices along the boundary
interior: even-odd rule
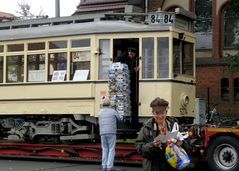
[[[141,165],[118,164],[117,170],[120,171],[142,171]],[[71,162],[54,161],[45,159],[19,160],[19,158],[0,158],[0,171],[99,171],[99,162]],[[210,171],[207,164],[197,164],[195,168],[187,171]]]

